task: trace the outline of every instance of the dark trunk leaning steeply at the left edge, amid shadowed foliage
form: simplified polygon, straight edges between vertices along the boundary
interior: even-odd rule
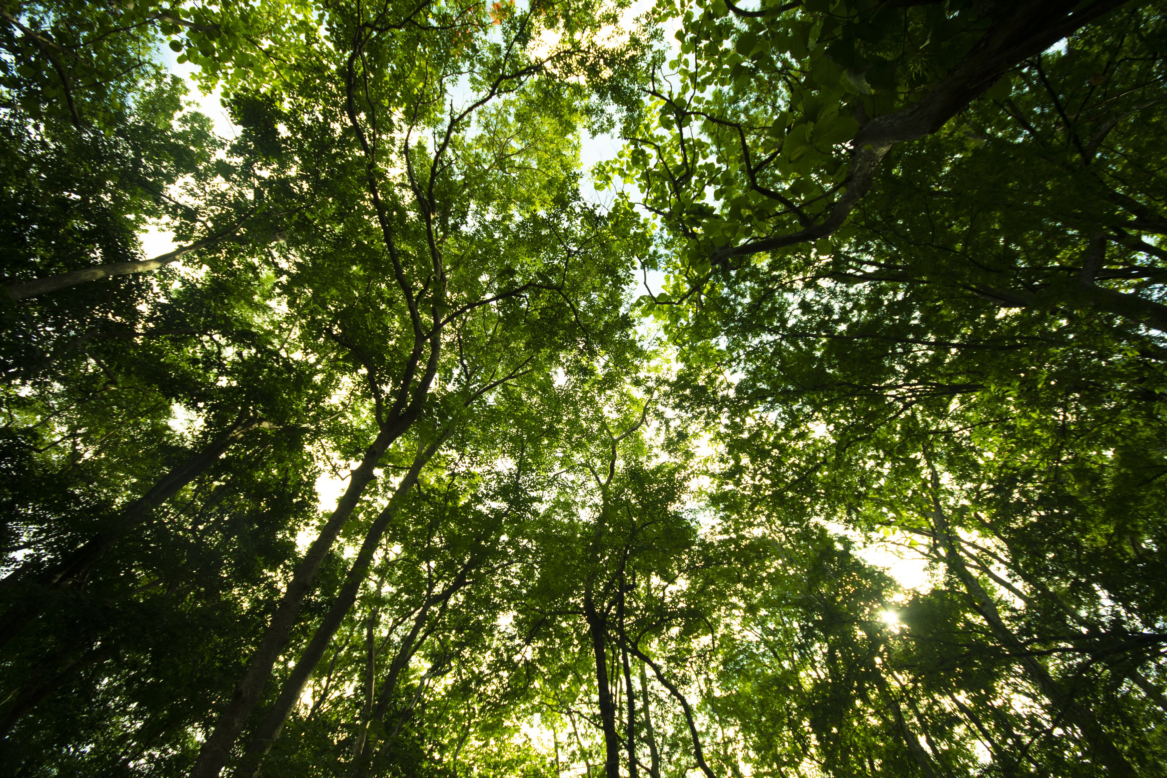
[[[208,468],[215,464],[231,446],[243,440],[245,433],[259,423],[256,420],[236,422],[228,429],[226,434],[212,441],[205,449],[174,467],[148,492],[127,505],[105,530],[70,554],[68,559],[37,575],[35,586],[43,591],[46,589],[69,589],[83,584],[97,563],[102,561],[102,558],[110,553],[121,538],[145,523],[154,509],[207,472]],[[0,581],[0,589],[8,589],[20,583],[22,577],[21,570],[9,574],[4,581]],[[0,622],[0,645],[15,637],[29,619],[44,609],[44,605],[43,598],[26,598],[5,614],[4,621]]]

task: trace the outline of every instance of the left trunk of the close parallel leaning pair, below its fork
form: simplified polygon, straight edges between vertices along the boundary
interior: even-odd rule
[[[365,488],[376,477],[373,471],[382,455],[408,427],[407,422],[383,426],[372,444],[365,450],[361,464],[349,476],[349,486],[337,500],[336,509],[293,570],[292,581],[284,591],[284,597],[272,615],[259,645],[252,653],[246,672],[236,685],[231,701],[219,714],[215,729],[198,751],[198,758],[190,770],[190,778],[216,778],[223,770],[235,741],[247,722],[247,716],[259,702],[259,696],[272,674],[277,658],[292,635],[292,629],[300,614],[300,605],[312,590],[328,551],[356,509]]]

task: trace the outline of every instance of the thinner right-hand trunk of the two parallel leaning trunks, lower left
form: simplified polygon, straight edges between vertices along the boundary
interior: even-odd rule
[[[418,483],[421,468],[433,458],[433,455],[438,453],[438,449],[441,448],[441,444],[446,442],[452,432],[453,428],[447,428],[438,440],[433,441],[424,450],[418,451],[418,455],[413,457],[413,464],[410,467],[408,472],[405,474],[397,489],[393,490],[393,496],[390,498],[389,505],[373,520],[372,526],[365,534],[364,542],[361,544],[357,558],[352,561],[352,566],[344,577],[340,594],[328,609],[324,621],[316,628],[315,635],[312,636],[308,647],[300,656],[300,660],[292,670],[292,674],[284,681],[284,688],[280,691],[280,695],[277,698],[272,709],[256,731],[254,740],[249,745],[243,762],[237,770],[238,775],[252,776],[259,771],[260,762],[271,750],[275,738],[280,736],[280,731],[284,729],[292,708],[303,693],[303,687],[308,682],[308,678],[316,670],[316,665],[320,664],[321,658],[324,656],[324,651],[328,649],[328,644],[331,643],[333,636],[336,635],[336,630],[340,629],[344,617],[348,616],[349,610],[351,610],[352,604],[356,602],[357,594],[361,591],[361,584],[369,576],[369,570],[372,567],[372,558],[377,552],[377,547],[380,546],[380,540],[385,535],[390,521],[392,521],[393,517],[401,509],[401,505],[408,499],[410,490]]]

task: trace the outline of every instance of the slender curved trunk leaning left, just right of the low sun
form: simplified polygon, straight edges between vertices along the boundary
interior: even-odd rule
[[[934,490],[939,486],[939,478],[935,470],[932,472],[932,485]],[[1026,675],[1029,680],[1041,691],[1041,693],[1048,699],[1056,708],[1055,715],[1064,716],[1068,721],[1076,724],[1082,734],[1085,736],[1083,740],[1092,745],[1092,751],[1098,757],[1098,759],[1106,765],[1116,776],[1130,776],[1134,778],[1137,775],[1134,768],[1131,766],[1123,752],[1113,744],[1113,742],[1106,736],[1105,730],[1102,724],[1095,717],[1093,713],[1083,706],[1078,705],[1074,700],[1072,692],[1068,692],[1057,682],[1046,670],[1046,666],[1041,661],[1032,656],[1029,651],[1021,644],[1021,642],[1013,635],[1013,631],[1008,629],[1005,621],[1001,618],[1000,611],[997,610],[997,603],[993,602],[988,593],[985,591],[984,587],[977,577],[969,570],[965,566],[964,560],[960,556],[960,551],[957,542],[952,539],[952,530],[949,526],[948,517],[944,510],[941,507],[939,498],[932,495],[932,521],[936,525],[936,534],[941,540],[941,545],[944,548],[944,562],[948,568],[956,575],[956,577],[964,584],[965,590],[969,596],[972,597],[973,608],[980,614],[980,617],[988,624],[988,629],[992,631],[993,637],[1012,653],[1016,660],[1021,664],[1025,670]]]

